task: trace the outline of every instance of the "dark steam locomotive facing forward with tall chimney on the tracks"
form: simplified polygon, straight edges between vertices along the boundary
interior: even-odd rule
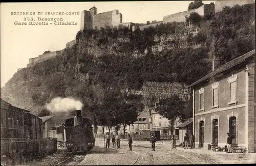
[[[81,116],[81,110],[75,110],[75,117],[66,119],[62,128],[63,142],[68,151],[88,152],[95,146],[92,124]]]

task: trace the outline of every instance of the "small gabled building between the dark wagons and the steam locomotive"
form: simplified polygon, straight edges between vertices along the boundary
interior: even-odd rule
[[[64,123],[63,120],[58,118],[56,115],[39,117],[42,120],[42,125],[45,126],[45,131],[43,132],[43,137],[57,137],[57,127]],[[62,131],[62,129],[61,129]],[[60,131],[59,131],[60,132]]]

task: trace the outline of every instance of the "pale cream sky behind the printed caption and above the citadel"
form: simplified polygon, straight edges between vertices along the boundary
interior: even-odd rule
[[[186,11],[193,1],[134,1],[134,2],[47,2],[1,3],[1,88],[17,72],[25,68],[30,58],[38,57],[47,50],[66,47],[80,30],[81,12],[95,6],[97,13],[119,10],[122,22],[146,23],[162,21],[163,16]],[[210,4],[215,1],[203,1]],[[12,15],[12,12],[35,12],[36,15]],[[43,12],[43,15],[37,15]],[[46,15],[46,12],[79,12],[79,15]],[[62,18],[77,25],[15,25],[26,22],[24,17]],[[36,21],[41,22],[41,21]]]

